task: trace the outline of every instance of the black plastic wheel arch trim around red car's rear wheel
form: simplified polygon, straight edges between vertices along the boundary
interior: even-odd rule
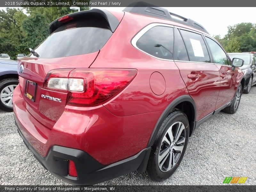
[[[158,119],[158,121],[157,121],[157,123],[155,125],[155,128],[154,128],[153,132],[151,133],[151,136],[150,136],[150,138],[148,140],[147,147],[152,147],[153,146],[154,141],[156,139],[157,132],[159,131],[159,129],[160,129],[161,125],[162,125],[162,122],[168,116],[170,111],[172,109],[174,109],[175,106],[179,105],[180,103],[182,103],[184,101],[190,102],[193,105],[193,108],[194,108],[194,113],[195,113],[194,121],[193,122],[189,122],[189,135],[192,134],[193,130],[195,129],[195,125],[196,125],[196,123],[195,123],[196,122],[196,104],[195,104],[194,100],[189,95],[182,95],[182,96],[176,98],[175,100],[173,100],[167,106],[167,108],[164,109],[164,112],[159,117],[159,119]]]

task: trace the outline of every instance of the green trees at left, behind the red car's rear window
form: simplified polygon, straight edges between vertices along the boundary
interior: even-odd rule
[[[24,10],[25,9],[25,10]],[[89,7],[80,7],[81,11]],[[25,13],[24,13],[25,12]],[[69,7],[6,8],[0,11],[0,53],[16,60],[19,53],[29,53],[49,35],[49,24],[76,10]]]

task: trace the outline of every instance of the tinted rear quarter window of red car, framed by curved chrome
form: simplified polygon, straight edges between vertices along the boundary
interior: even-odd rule
[[[171,60],[173,41],[173,28],[156,26],[141,36],[136,45],[140,50],[150,55]]]

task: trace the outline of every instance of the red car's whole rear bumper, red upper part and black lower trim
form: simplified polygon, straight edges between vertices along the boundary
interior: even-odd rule
[[[32,116],[27,108],[18,85],[13,94],[18,132],[44,168],[62,181],[93,185],[136,170],[145,171],[151,132],[143,129],[154,124],[154,116],[159,112],[142,114],[140,122],[135,122],[134,116],[117,117],[104,107],[87,111],[70,107],[49,129],[40,122],[43,119]],[[67,160],[75,163],[77,177],[68,175]]]

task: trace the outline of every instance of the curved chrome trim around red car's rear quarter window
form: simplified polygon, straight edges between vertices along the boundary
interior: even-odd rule
[[[140,50],[141,52],[151,56],[151,57],[154,57],[156,59],[159,59],[159,60],[165,60],[165,61],[174,61],[174,60],[170,60],[170,59],[163,59],[163,58],[159,58],[159,57],[156,57],[154,55],[151,55],[145,51],[142,51],[139,47],[137,47],[136,43],[137,41],[140,39],[141,36],[143,36],[149,29],[153,28],[153,27],[156,27],[156,26],[164,26],[164,27],[170,27],[170,28],[174,28],[173,25],[168,25],[168,24],[164,24],[164,23],[151,23],[149,25],[147,25],[146,27],[144,27],[143,29],[141,29],[133,38],[132,38],[132,46],[135,47],[136,49]],[[173,35],[174,35],[174,31],[173,31]]]

